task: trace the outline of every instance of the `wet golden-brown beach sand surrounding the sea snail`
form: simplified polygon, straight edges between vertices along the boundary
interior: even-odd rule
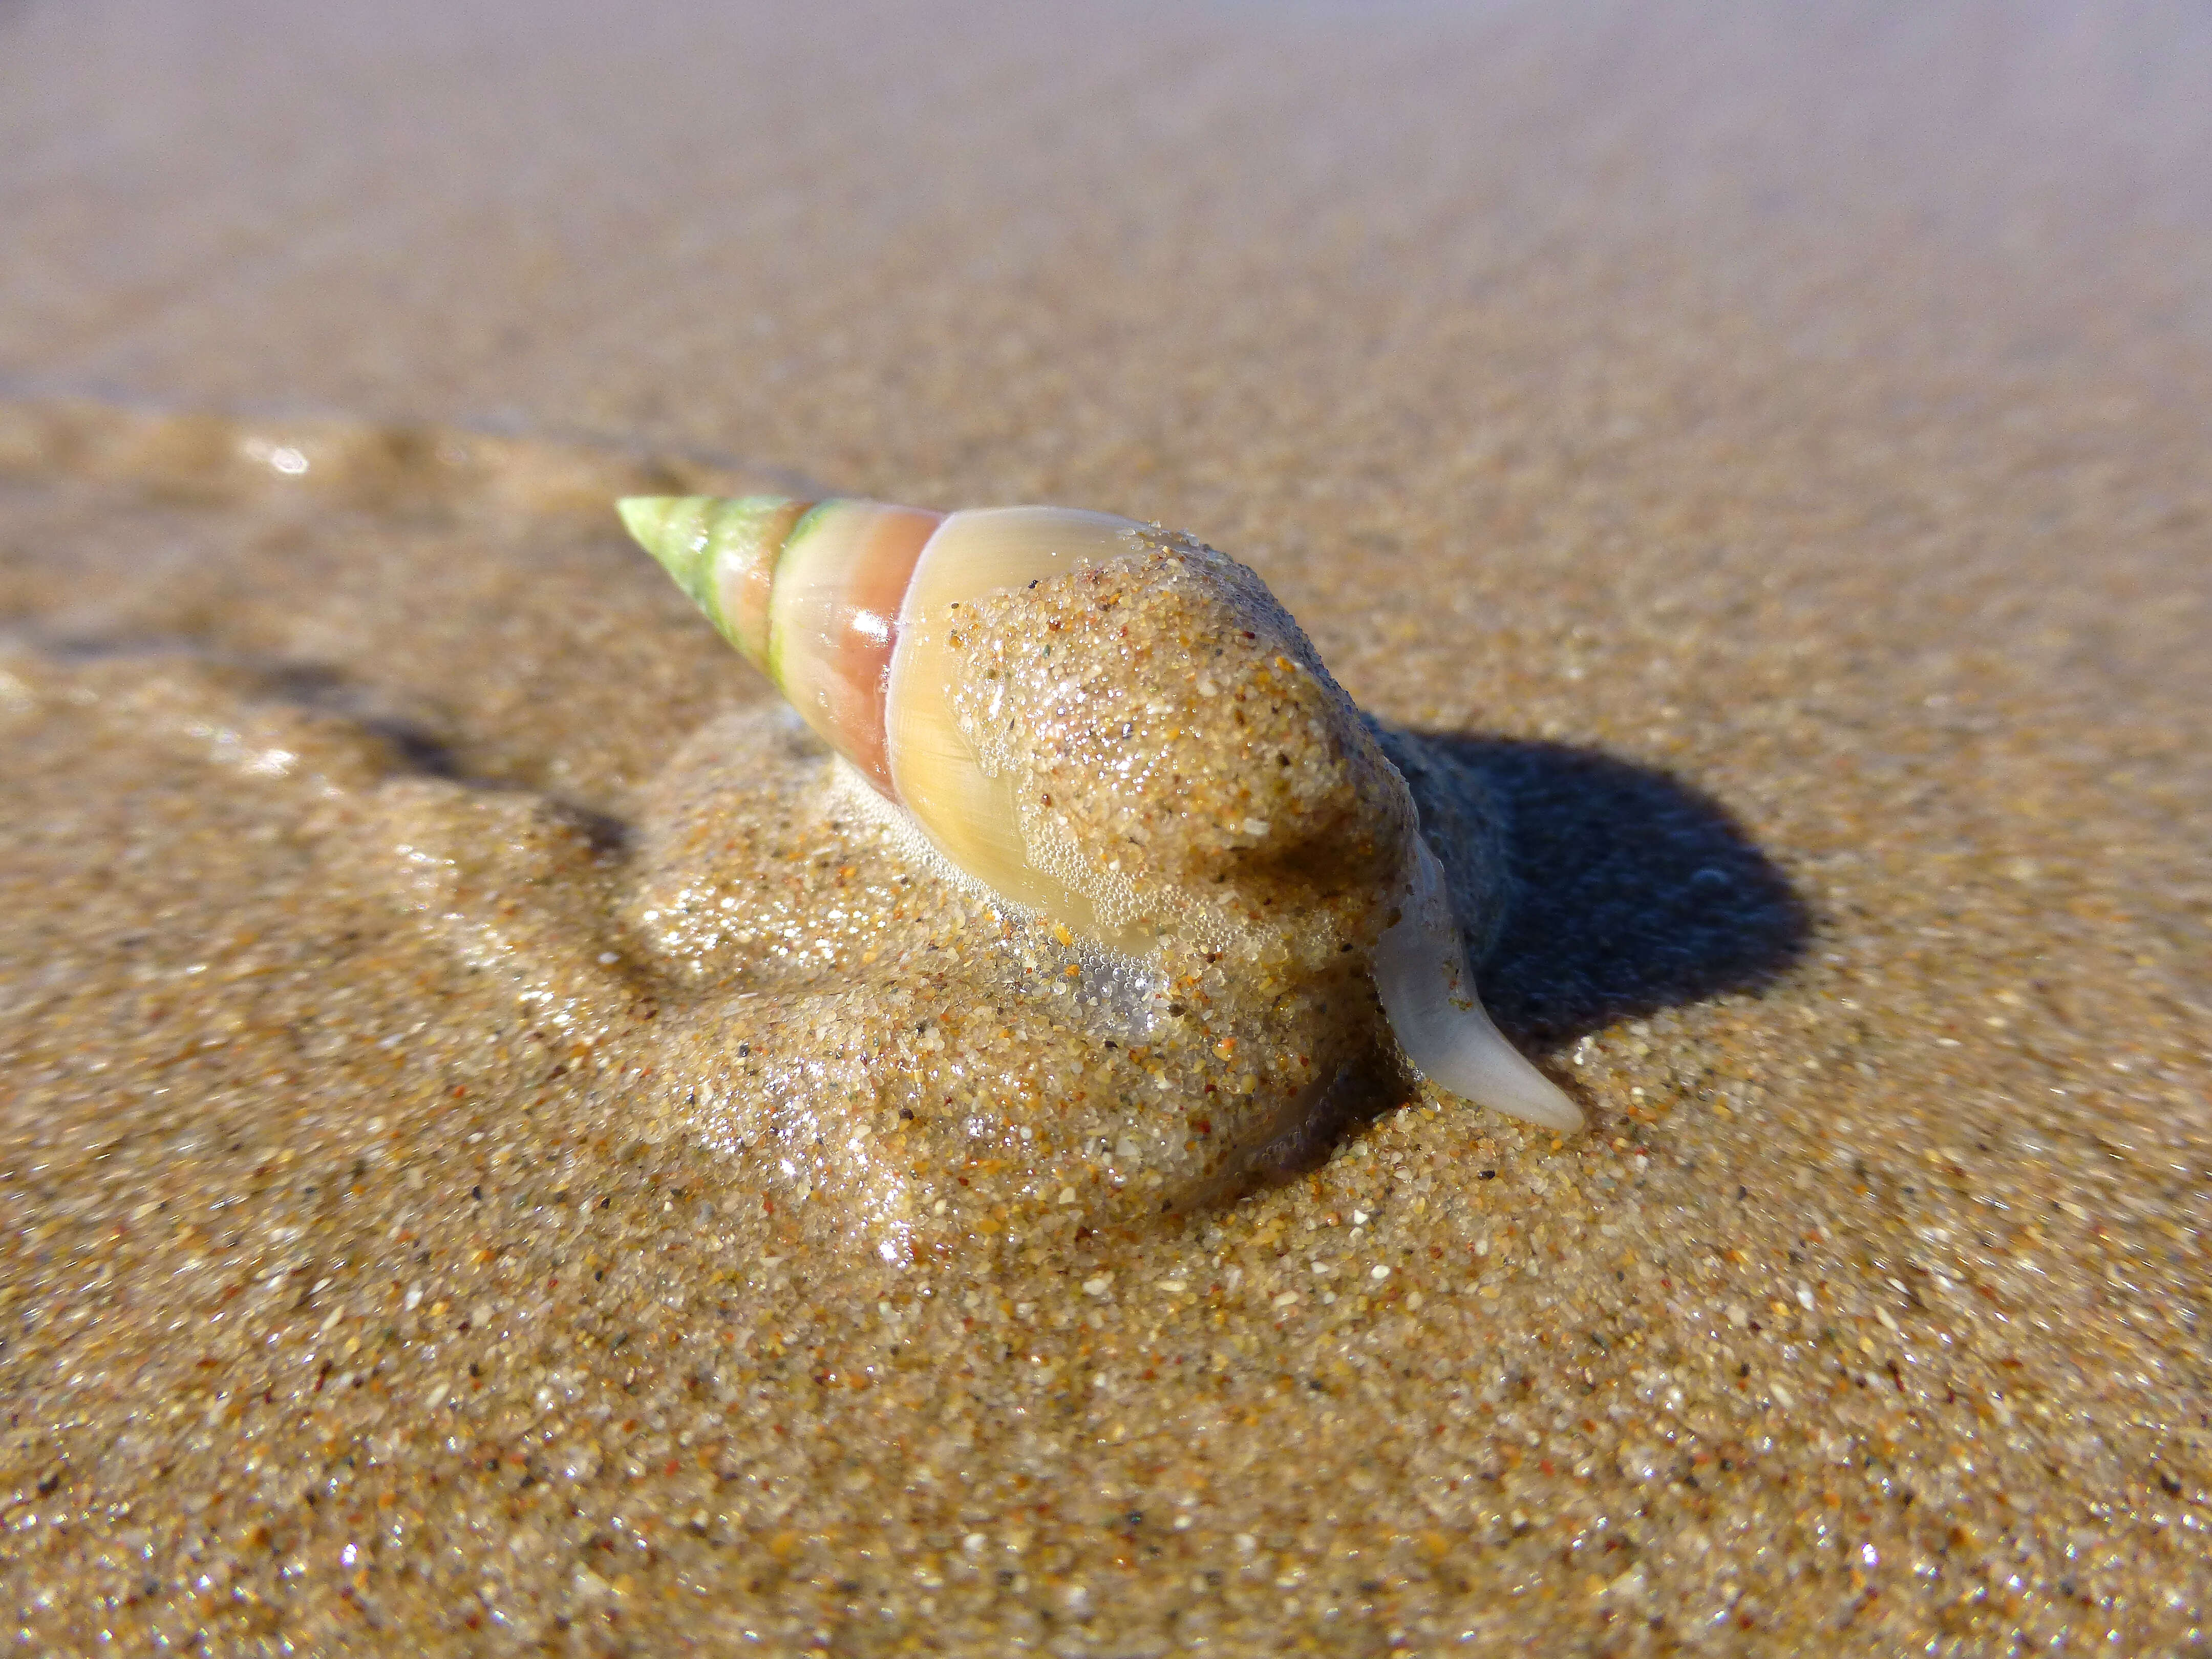
[[[18,1639],[2201,1644],[2208,64],[0,9]],[[949,900],[606,507],[681,489],[1252,564],[1502,799],[1484,993],[1590,1130],[1416,1091],[885,1259],[690,1093]],[[708,1018],[630,900],[741,796]]]

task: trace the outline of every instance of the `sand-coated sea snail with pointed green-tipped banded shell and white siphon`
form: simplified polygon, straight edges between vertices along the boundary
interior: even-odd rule
[[[1119,1155],[1150,1208],[1201,1201],[1391,1055],[1579,1126],[1484,1015],[1405,779],[1245,566],[1057,507],[633,498],[622,518],[902,856],[1055,964],[1088,1086],[1024,1126],[1040,1188]]]

